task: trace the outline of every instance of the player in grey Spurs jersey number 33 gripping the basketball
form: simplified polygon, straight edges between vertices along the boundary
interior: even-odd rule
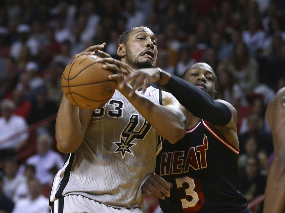
[[[156,44],[149,28],[134,27],[121,35],[118,56],[135,69],[154,67]],[[99,51],[104,46],[81,54],[98,51],[109,57]],[[114,64],[105,66],[118,69]],[[69,154],[53,181],[52,212],[142,212],[141,187],[155,171],[161,137],[176,142],[184,136],[186,118],[170,93],[149,86],[144,94],[135,91],[129,97],[129,84],[117,89],[105,106],[95,110],[79,109],[63,96],[56,140],[58,149]]]

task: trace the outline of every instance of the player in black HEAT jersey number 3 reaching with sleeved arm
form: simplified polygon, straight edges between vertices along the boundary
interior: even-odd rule
[[[214,100],[217,78],[213,69],[196,63],[185,71],[183,80],[157,68],[134,71],[117,63],[131,73],[122,87],[130,79],[136,79],[133,88],[141,82],[158,81],[188,110],[185,136],[174,144],[164,140],[156,175],[148,178],[143,192],[161,198],[164,213],[251,212],[240,192],[237,111],[226,101]],[[170,198],[162,178],[173,185]]]

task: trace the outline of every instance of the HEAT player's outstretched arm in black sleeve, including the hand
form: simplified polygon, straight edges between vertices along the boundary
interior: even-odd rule
[[[136,79],[132,84],[132,95],[141,82],[144,82],[143,91],[146,89],[148,82],[158,82],[163,85],[174,97],[195,117],[207,120],[216,126],[226,126],[232,118],[232,110],[221,101],[214,101],[213,98],[195,87],[193,84],[171,76],[170,73],[160,71],[157,68],[146,68],[134,71],[129,65],[118,61],[118,65],[126,69],[129,74],[125,81],[120,85],[126,86],[126,82],[130,79]]]

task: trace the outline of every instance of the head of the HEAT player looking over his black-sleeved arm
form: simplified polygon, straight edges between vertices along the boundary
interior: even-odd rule
[[[215,97],[216,79],[213,74],[213,69],[208,64],[197,64],[192,70],[187,72],[184,79],[201,90],[204,90],[211,97]]]

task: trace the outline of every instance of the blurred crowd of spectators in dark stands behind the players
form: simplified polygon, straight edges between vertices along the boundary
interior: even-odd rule
[[[49,210],[64,156],[50,123],[36,131],[37,153],[15,161],[31,144],[25,129],[57,112],[61,75],[74,54],[106,42],[104,51],[118,58],[119,35],[141,24],[157,36],[158,67],[182,76],[204,61],[216,72],[216,99],[238,111],[242,193],[249,202],[262,195],[273,160],[265,110],[285,86],[284,8],[283,0],[1,1],[0,212]],[[154,211],[152,202],[145,212]]]

